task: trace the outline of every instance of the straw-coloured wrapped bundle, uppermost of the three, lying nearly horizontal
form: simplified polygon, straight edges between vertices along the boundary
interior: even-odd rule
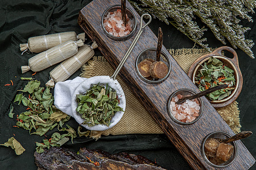
[[[30,52],[40,53],[52,48],[53,46],[62,44],[63,42],[66,42],[69,40],[77,41],[80,39],[83,42],[85,41],[85,33],[80,33],[79,35],[76,35],[75,31],[60,32],[60,33],[52,33],[49,35],[30,37],[27,43],[20,44],[19,46],[22,52],[24,50],[29,49]]]

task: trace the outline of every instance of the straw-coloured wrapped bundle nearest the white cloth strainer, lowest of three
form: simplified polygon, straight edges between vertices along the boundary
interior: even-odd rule
[[[79,48],[79,52],[75,56],[61,62],[60,65],[55,67],[49,75],[51,79],[46,83],[46,86],[53,87],[54,82],[63,82],[69,76],[74,74],[82,65],[84,65],[90,58],[94,56],[94,50],[98,45],[93,42],[92,46],[84,45]]]

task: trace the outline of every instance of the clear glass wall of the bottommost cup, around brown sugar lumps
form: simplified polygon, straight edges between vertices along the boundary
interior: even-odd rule
[[[228,137],[231,137],[231,135],[229,135],[228,133],[225,133],[224,131],[214,131],[213,133],[210,133],[208,134],[204,139],[203,139],[203,142],[201,143],[201,155],[203,156],[205,162],[207,162],[209,165],[211,165],[212,167],[215,167],[215,168],[225,168],[227,167],[228,165],[232,164],[232,162],[236,159],[236,156],[237,156],[237,144],[236,144],[236,141],[234,142],[230,142],[231,145],[234,146],[234,151],[233,151],[233,154],[231,156],[231,158],[225,162],[225,163],[222,163],[220,165],[216,165],[216,164],[213,164],[211,163],[208,159],[207,159],[207,156],[205,155],[205,152],[204,152],[204,145],[205,145],[205,142],[207,141],[208,138],[220,138],[220,139],[226,139]]]

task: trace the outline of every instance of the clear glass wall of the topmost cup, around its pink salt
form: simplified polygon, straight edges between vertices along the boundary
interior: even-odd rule
[[[128,15],[128,17],[130,18],[130,20],[132,21],[132,24],[133,24],[132,27],[131,27],[131,32],[129,33],[129,35],[122,36],[122,37],[113,36],[108,31],[106,31],[106,29],[103,25],[104,19],[109,14],[109,12],[113,12],[113,11],[116,11],[118,9],[121,10],[121,5],[110,6],[104,11],[104,13],[101,16],[101,27],[102,27],[104,33],[106,34],[106,36],[108,36],[110,39],[117,40],[117,41],[125,41],[127,39],[130,39],[130,37],[134,35],[134,33],[137,29],[137,18],[135,16],[134,12],[129,7],[126,7],[126,14]]]

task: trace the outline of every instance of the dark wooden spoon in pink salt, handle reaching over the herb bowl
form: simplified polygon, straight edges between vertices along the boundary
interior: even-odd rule
[[[181,104],[181,103],[183,103],[183,102],[186,101],[186,100],[192,100],[192,99],[196,99],[196,98],[199,98],[199,97],[208,95],[208,94],[210,94],[211,92],[214,92],[214,91],[216,91],[216,90],[220,90],[220,89],[226,88],[226,87],[229,87],[229,85],[228,85],[228,84],[221,84],[221,85],[219,85],[219,86],[215,86],[215,87],[212,87],[212,88],[208,88],[207,90],[202,91],[202,92],[200,92],[200,93],[198,93],[198,94],[195,94],[195,95],[192,95],[192,96],[188,96],[188,97],[183,97],[183,98],[179,99],[179,100],[177,101],[177,104]]]

